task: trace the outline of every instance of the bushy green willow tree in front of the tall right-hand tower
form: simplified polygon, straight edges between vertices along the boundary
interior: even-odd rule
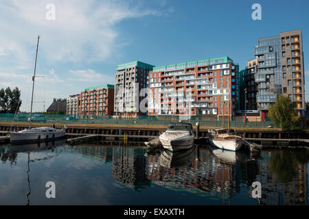
[[[288,96],[277,96],[275,104],[268,107],[268,117],[273,120],[275,127],[284,130],[301,129],[301,116],[297,116],[295,103]]]

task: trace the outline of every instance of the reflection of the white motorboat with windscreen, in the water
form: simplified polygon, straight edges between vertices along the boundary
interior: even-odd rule
[[[159,157],[160,166],[166,168],[179,168],[189,166],[194,158],[195,147],[183,151],[169,151],[162,149]]]

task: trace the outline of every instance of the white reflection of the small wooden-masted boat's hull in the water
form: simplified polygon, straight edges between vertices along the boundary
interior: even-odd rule
[[[209,149],[221,162],[236,164],[236,162],[245,160],[245,155],[238,151],[227,151],[213,146],[209,146]]]

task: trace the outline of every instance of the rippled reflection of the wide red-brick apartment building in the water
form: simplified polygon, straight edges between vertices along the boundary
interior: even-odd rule
[[[200,160],[193,159],[190,168],[162,168],[158,155],[149,156],[147,178],[171,190],[229,198],[235,190],[233,165],[220,164],[208,150],[199,149],[197,156]]]

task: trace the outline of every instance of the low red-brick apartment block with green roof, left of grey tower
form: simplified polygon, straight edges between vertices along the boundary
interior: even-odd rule
[[[114,86],[105,84],[85,88],[80,93],[78,114],[80,115],[112,115],[114,108]]]

